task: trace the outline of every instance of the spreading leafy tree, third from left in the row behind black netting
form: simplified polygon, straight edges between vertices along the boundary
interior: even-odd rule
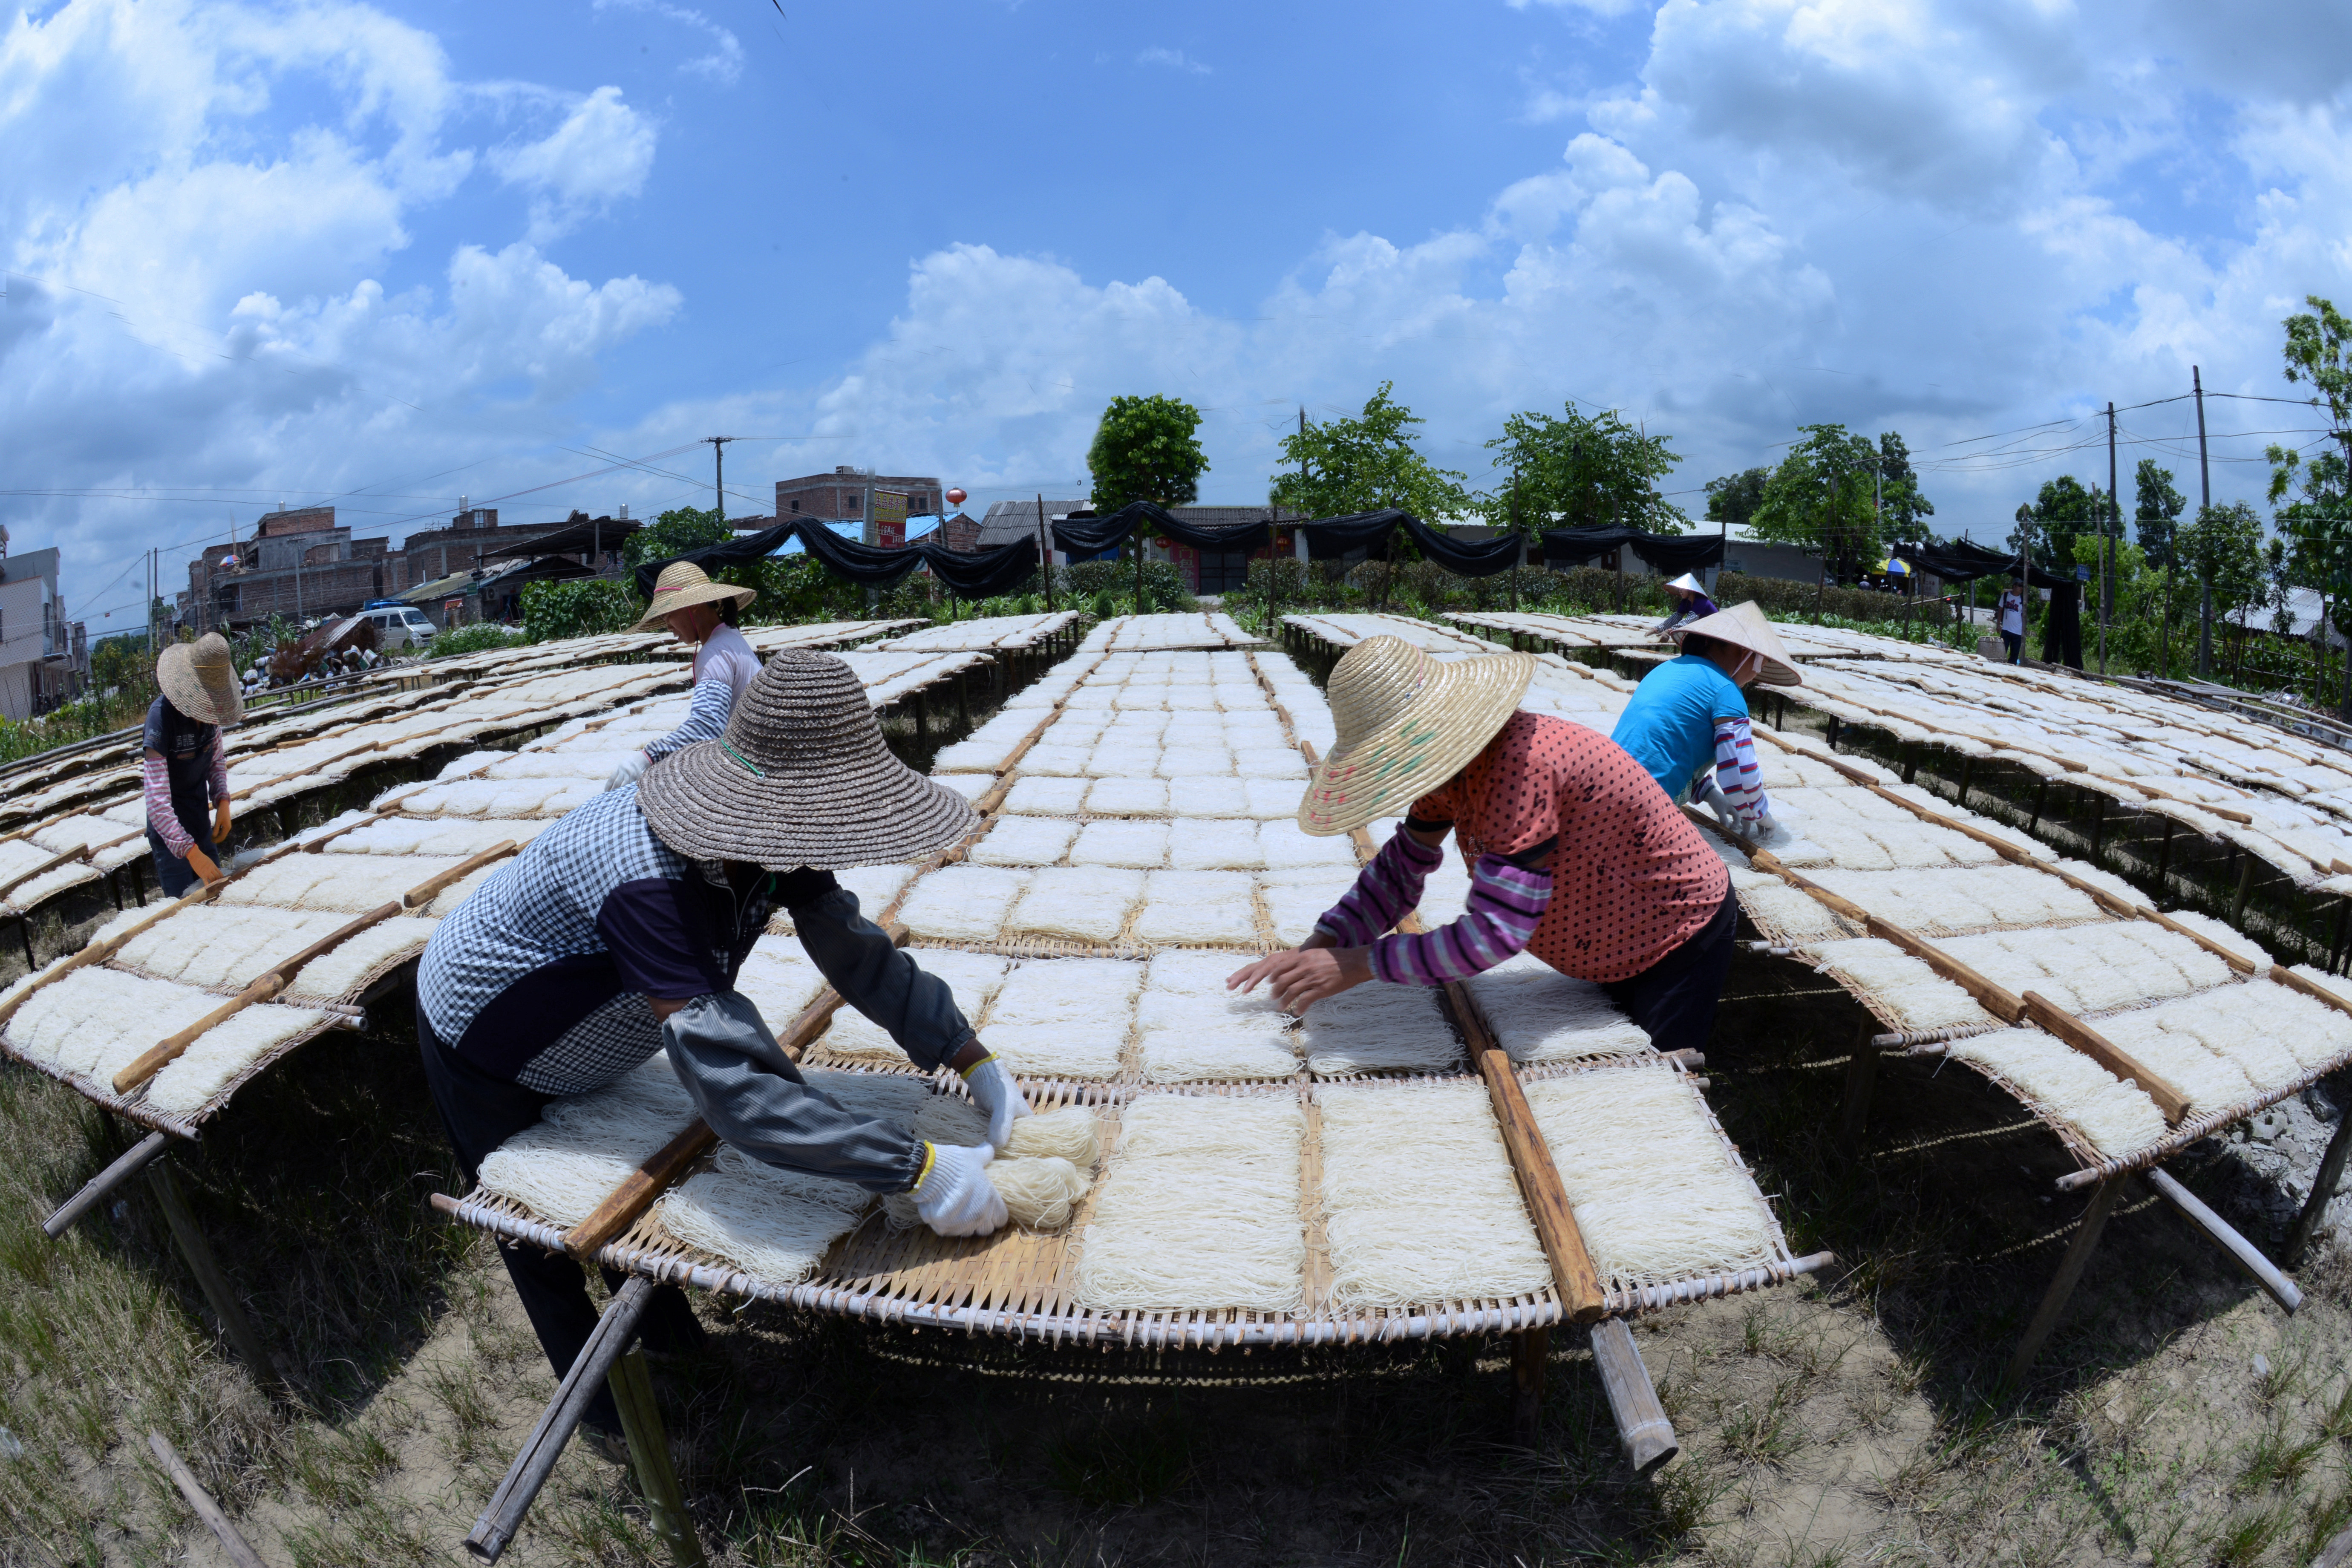
[[[1479,496],[1477,510],[1496,529],[1510,529],[1517,512],[1526,534],[1609,522],[1651,534],[1682,534],[1689,517],[1658,494],[1658,480],[1675,473],[1675,463],[1682,461],[1665,440],[1628,425],[1616,409],[1581,414],[1569,402],[1559,418],[1536,411],[1512,414],[1503,421],[1503,435],[1486,442],[1486,449],[1501,454],[1498,468],[1512,470],[1517,508],[1505,489]]]

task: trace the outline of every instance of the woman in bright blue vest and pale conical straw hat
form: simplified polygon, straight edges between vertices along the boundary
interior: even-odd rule
[[[1795,686],[1802,682],[1797,665],[1755,599],[1691,621],[1672,637],[1682,656],[1642,677],[1609,738],[1632,752],[1668,797],[1705,802],[1719,820],[1776,837],[1745,686]]]

